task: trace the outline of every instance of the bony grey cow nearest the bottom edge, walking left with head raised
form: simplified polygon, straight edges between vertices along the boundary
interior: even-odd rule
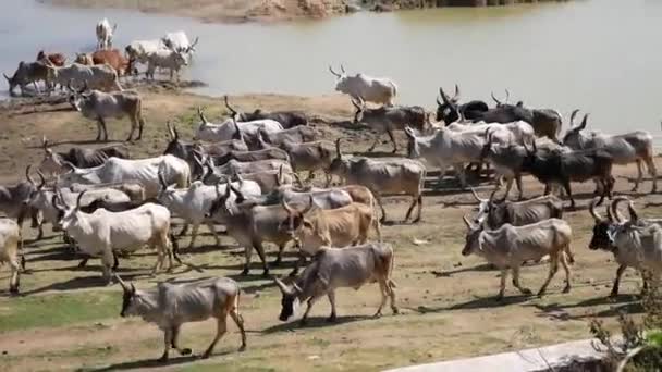
[[[217,333],[211,345],[203,354],[209,358],[213,347],[228,330],[228,315],[232,318],[242,334],[240,351],[246,349],[244,319],[240,314],[240,286],[226,277],[207,278],[186,284],[159,283],[156,288],[139,290],[133,284],[126,285],[120,276],[115,278],[122,285],[122,318],[140,317],[149,323],[156,323],[164,333],[164,347],[161,361],[168,360],[170,348],[181,355],[189,355],[189,348],[181,348],[177,343],[182,324],[200,322],[209,318],[217,319]]]

